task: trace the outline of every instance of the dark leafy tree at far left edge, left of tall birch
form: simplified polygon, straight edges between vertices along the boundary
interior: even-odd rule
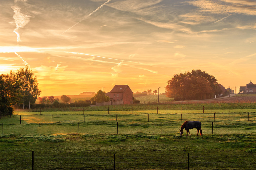
[[[1,116],[12,114],[11,105],[20,102],[20,82],[13,78],[13,72],[0,75],[0,112]]]

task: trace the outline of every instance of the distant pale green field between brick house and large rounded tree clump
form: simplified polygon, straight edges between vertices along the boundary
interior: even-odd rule
[[[135,97],[136,100],[140,100],[141,103],[153,103],[158,102],[158,95],[146,95]],[[170,102],[173,98],[166,97],[166,95],[159,95],[159,102]]]

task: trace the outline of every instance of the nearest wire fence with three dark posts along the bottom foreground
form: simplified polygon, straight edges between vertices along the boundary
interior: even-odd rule
[[[71,156],[40,155],[1,156],[0,168],[13,169],[255,169],[255,154],[205,155],[173,153],[172,156]],[[97,155],[97,154],[96,154]],[[176,155],[176,156],[175,156]]]

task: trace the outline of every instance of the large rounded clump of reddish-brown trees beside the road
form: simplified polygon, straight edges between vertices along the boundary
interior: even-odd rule
[[[166,96],[174,100],[209,99],[221,93],[217,79],[201,70],[175,74],[167,84]]]

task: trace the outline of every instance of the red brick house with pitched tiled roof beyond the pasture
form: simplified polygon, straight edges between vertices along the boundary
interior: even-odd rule
[[[132,104],[132,90],[127,84],[115,85],[106,96],[110,98],[111,105]]]

